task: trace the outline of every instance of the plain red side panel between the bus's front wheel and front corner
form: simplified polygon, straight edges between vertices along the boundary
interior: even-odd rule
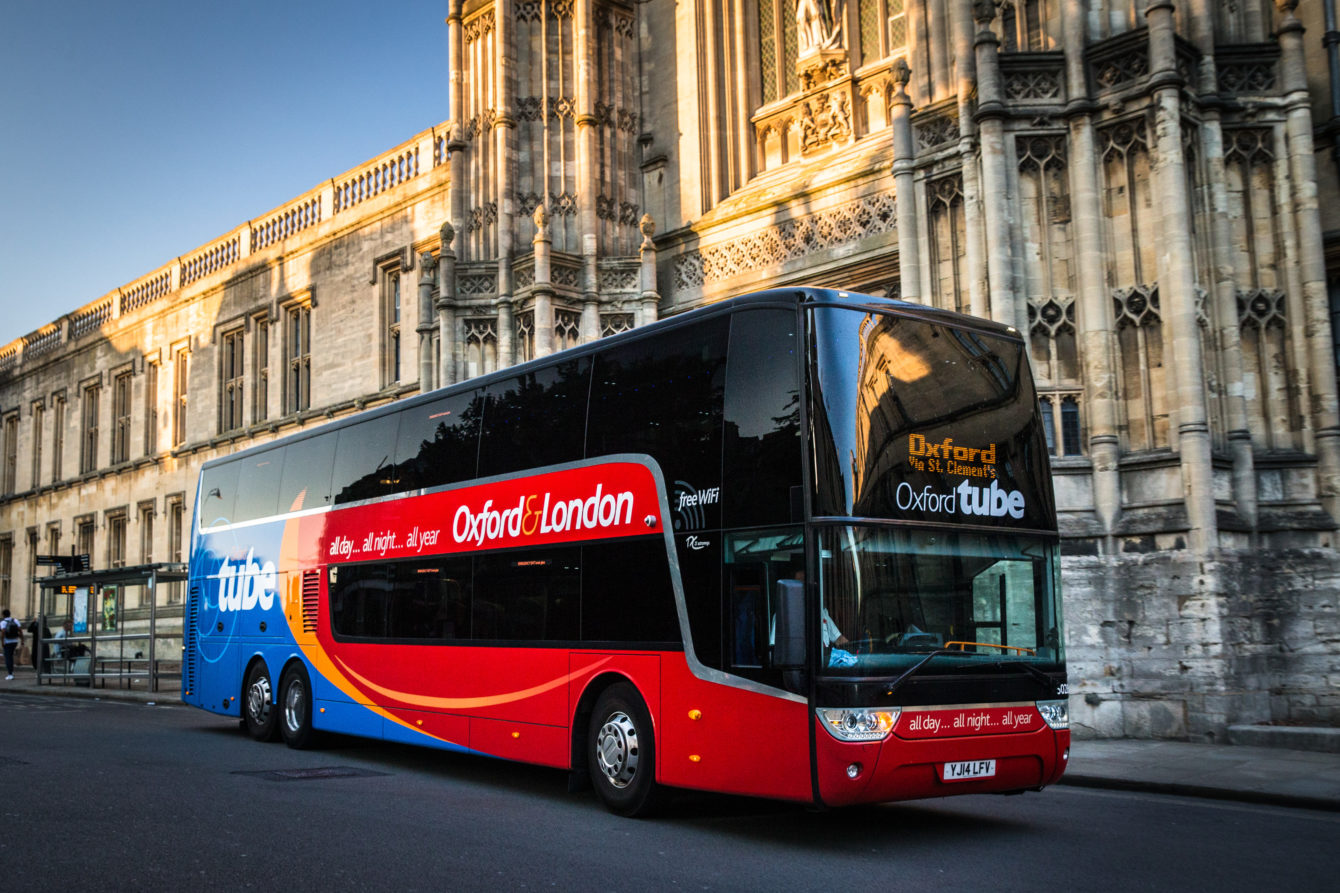
[[[682,654],[666,656],[665,676],[657,739],[663,783],[813,799],[805,704],[697,678]]]

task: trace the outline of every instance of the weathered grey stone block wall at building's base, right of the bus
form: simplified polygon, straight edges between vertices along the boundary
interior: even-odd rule
[[[1081,737],[1225,740],[1230,723],[1340,724],[1329,550],[1064,559]]]

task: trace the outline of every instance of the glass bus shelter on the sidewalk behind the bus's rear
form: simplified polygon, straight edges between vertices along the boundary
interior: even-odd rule
[[[185,564],[56,573],[35,582],[39,685],[181,687]]]

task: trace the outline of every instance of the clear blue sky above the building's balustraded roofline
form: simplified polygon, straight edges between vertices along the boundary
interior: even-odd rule
[[[0,3],[0,346],[445,121],[446,5]]]

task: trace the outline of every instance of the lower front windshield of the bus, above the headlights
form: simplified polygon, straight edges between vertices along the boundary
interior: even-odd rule
[[[825,527],[819,569],[827,674],[894,674],[934,650],[954,652],[937,668],[1064,660],[1056,546],[1044,539]]]

